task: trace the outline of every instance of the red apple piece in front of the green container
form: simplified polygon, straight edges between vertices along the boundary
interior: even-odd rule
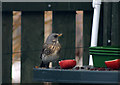
[[[108,68],[119,69],[120,68],[120,59],[105,61],[105,64]]]

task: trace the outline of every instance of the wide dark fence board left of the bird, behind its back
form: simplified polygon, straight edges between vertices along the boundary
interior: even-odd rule
[[[33,67],[41,62],[40,51],[44,42],[44,12],[22,12],[21,82],[32,83]]]

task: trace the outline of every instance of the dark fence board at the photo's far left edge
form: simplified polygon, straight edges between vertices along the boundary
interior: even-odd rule
[[[2,83],[11,83],[12,12],[2,12]]]

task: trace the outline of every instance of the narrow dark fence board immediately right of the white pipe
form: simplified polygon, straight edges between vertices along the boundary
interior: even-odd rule
[[[112,3],[105,2],[103,4],[103,46],[111,45],[108,40],[111,40],[111,24],[112,24]]]

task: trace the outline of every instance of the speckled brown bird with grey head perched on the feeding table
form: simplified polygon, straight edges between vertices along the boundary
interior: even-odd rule
[[[40,58],[42,59],[40,67],[49,68],[50,62],[56,62],[59,59],[59,52],[61,50],[61,45],[58,38],[62,36],[62,33],[51,33],[46,42],[43,44],[42,52]]]

